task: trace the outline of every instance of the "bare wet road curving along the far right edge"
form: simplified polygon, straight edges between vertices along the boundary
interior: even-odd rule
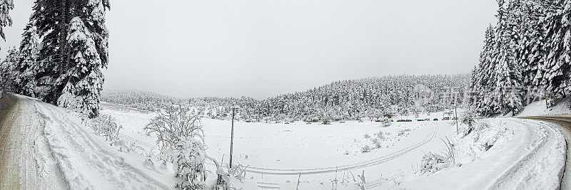
[[[561,179],[560,189],[571,189],[571,116],[570,115],[559,115],[559,116],[532,116],[532,117],[518,117],[522,119],[530,120],[542,120],[546,122],[552,122],[560,126],[560,131],[565,137],[565,142],[567,144],[567,158],[565,159],[565,171]]]

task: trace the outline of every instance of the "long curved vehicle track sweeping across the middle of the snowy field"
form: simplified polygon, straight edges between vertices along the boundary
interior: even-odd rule
[[[268,169],[268,168],[261,168],[261,167],[248,167],[246,171],[256,173],[256,174],[274,174],[274,175],[299,175],[299,174],[325,174],[325,173],[334,173],[335,171],[343,171],[345,169],[363,169],[365,167],[372,167],[378,164],[382,164],[384,162],[388,162],[392,159],[402,156],[410,152],[413,149],[416,149],[428,142],[430,142],[437,134],[438,127],[433,127],[428,135],[417,144],[413,146],[407,147],[405,149],[400,149],[396,152],[385,154],[382,157],[378,157],[376,159],[371,159],[365,162],[358,162],[355,164],[348,164],[342,166],[335,166],[335,167],[322,167],[322,168],[314,168],[314,169]]]

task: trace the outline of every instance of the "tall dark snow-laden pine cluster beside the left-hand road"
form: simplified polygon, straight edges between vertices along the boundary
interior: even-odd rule
[[[108,63],[108,9],[108,0],[35,1],[30,23],[42,36],[33,72],[36,81],[30,85],[36,97],[74,110],[81,107],[90,117],[97,115],[103,83],[100,68]]]

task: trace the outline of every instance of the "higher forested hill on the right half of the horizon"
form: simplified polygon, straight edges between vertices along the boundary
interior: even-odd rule
[[[469,75],[395,75],[343,80],[268,98],[257,109],[262,116],[332,117],[333,120],[444,110],[463,102],[469,81]]]

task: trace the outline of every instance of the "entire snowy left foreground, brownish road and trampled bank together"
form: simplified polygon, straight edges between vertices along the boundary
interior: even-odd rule
[[[146,169],[140,157],[118,152],[74,112],[9,93],[0,105],[0,189],[173,186],[170,174]]]

